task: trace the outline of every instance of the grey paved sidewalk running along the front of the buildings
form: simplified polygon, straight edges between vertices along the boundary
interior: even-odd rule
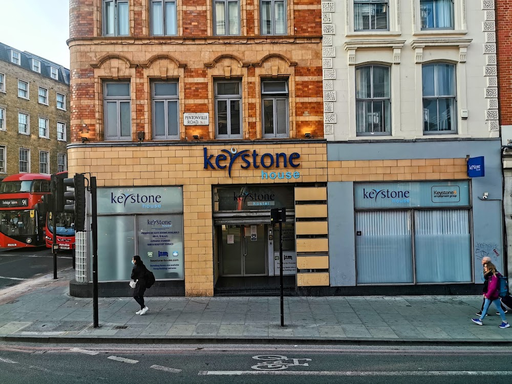
[[[481,296],[150,297],[145,315],[133,298],[69,296],[74,271],[0,290],[0,340],[92,343],[416,343],[512,344],[495,310],[484,326]],[[511,311],[512,312],[512,311]],[[510,313],[512,318],[512,313]]]

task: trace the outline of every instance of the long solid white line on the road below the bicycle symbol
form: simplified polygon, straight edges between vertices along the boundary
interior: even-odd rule
[[[290,376],[512,376],[512,371],[409,371],[409,372],[353,372],[353,371],[199,371],[199,375],[290,375]]]

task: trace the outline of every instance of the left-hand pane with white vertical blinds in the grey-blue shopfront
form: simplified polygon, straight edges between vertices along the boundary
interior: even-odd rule
[[[358,284],[413,282],[409,212],[356,212],[356,231]]]

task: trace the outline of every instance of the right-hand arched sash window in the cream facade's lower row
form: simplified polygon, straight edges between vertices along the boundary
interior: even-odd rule
[[[423,82],[423,132],[456,133],[455,65],[425,64]]]

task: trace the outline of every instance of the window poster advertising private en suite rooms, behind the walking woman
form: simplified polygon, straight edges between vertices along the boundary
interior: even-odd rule
[[[155,279],[183,279],[183,216],[137,216],[138,254]]]

